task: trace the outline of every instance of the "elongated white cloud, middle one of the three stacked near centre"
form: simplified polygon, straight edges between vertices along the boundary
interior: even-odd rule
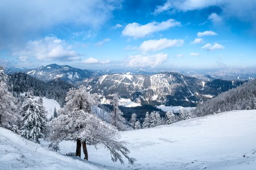
[[[155,52],[165,48],[171,48],[173,46],[182,46],[183,44],[184,40],[177,39],[147,40],[142,42],[142,44],[139,46],[139,49],[142,50],[142,52]]]

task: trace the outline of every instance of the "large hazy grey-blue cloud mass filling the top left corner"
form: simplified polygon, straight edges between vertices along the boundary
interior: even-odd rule
[[[121,0],[2,0],[0,5],[0,46],[59,24],[76,24],[97,29],[121,8]],[[11,10],[10,10],[11,9]],[[3,15],[4,14],[4,15]]]

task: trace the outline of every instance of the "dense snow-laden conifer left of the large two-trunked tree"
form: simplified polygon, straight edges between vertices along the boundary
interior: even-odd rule
[[[46,134],[47,112],[43,107],[42,98],[34,100],[27,96],[22,106],[22,127],[20,128],[22,137],[39,143],[39,138],[44,138]]]

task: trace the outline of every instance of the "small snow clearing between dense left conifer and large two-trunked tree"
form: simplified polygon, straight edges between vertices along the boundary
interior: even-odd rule
[[[35,96],[35,100],[38,100],[39,97]],[[43,99],[43,105],[46,108],[47,111],[47,118],[51,118],[54,113],[54,108],[56,107],[56,111],[58,112],[60,109],[60,104],[54,100],[54,99],[47,99],[46,97],[42,97]]]

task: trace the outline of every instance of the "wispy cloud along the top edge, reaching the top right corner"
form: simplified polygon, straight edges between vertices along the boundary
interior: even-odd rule
[[[239,1],[239,3],[234,0],[167,0],[162,6],[155,8],[154,14],[174,10],[201,10],[210,6],[221,8],[223,18],[237,18],[243,22],[251,23],[254,28],[256,27],[256,1],[254,0]]]

